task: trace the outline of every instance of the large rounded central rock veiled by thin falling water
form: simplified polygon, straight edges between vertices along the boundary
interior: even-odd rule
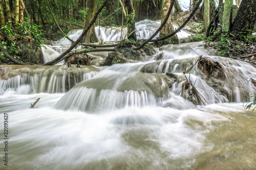
[[[104,71],[73,87],[56,107],[94,112],[158,105],[168,96],[171,83],[172,80],[161,74]]]

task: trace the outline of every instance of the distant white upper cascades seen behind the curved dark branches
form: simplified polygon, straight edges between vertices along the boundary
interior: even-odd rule
[[[147,39],[150,38],[155,31],[160,27],[161,21],[152,21],[152,20],[142,20],[135,23],[135,27],[137,29],[136,33],[138,34],[138,39]],[[177,26],[174,26],[177,29]],[[95,27],[95,32],[100,41],[119,41],[121,39],[121,27]],[[78,37],[82,34],[82,30],[72,30],[69,32],[69,37],[74,41],[78,39]],[[123,29],[122,37],[124,38],[127,34],[127,28]],[[188,37],[190,34],[181,30],[177,33],[179,38]],[[155,37],[157,38],[159,34]],[[58,57],[61,53],[67,50],[71,45],[71,41],[67,38],[62,38],[59,41],[54,41],[51,45],[45,45],[46,48],[41,47],[42,56],[44,58],[44,62],[47,63],[56,57]],[[76,49],[81,48],[78,46]],[[96,53],[93,53],[96,54]],[[103,54],[103,55],[102,55]],[[100,52],[97,56],[106,57],[108,56],[108,52]],[[60,62],[59,64],[63,64]]]

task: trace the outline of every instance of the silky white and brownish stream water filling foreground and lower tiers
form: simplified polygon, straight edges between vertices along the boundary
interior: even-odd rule
[[[194,51],[219,62],[222,77],[207,78]],[[1,142],[0,169],[256,169],[256,112],[243,108],[256,91],[255,67],[214,56],[202,42],[160,54],[108,67],[1,65],[9,162]],[[182,93],[185,76],[209,104]]]

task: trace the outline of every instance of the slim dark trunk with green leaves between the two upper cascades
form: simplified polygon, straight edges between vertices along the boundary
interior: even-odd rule
[[[137,40],[135,28],[135,10],[133,8],[132,0],[126,0],[125,6],[127,8],[127,29],[128,39]]]

